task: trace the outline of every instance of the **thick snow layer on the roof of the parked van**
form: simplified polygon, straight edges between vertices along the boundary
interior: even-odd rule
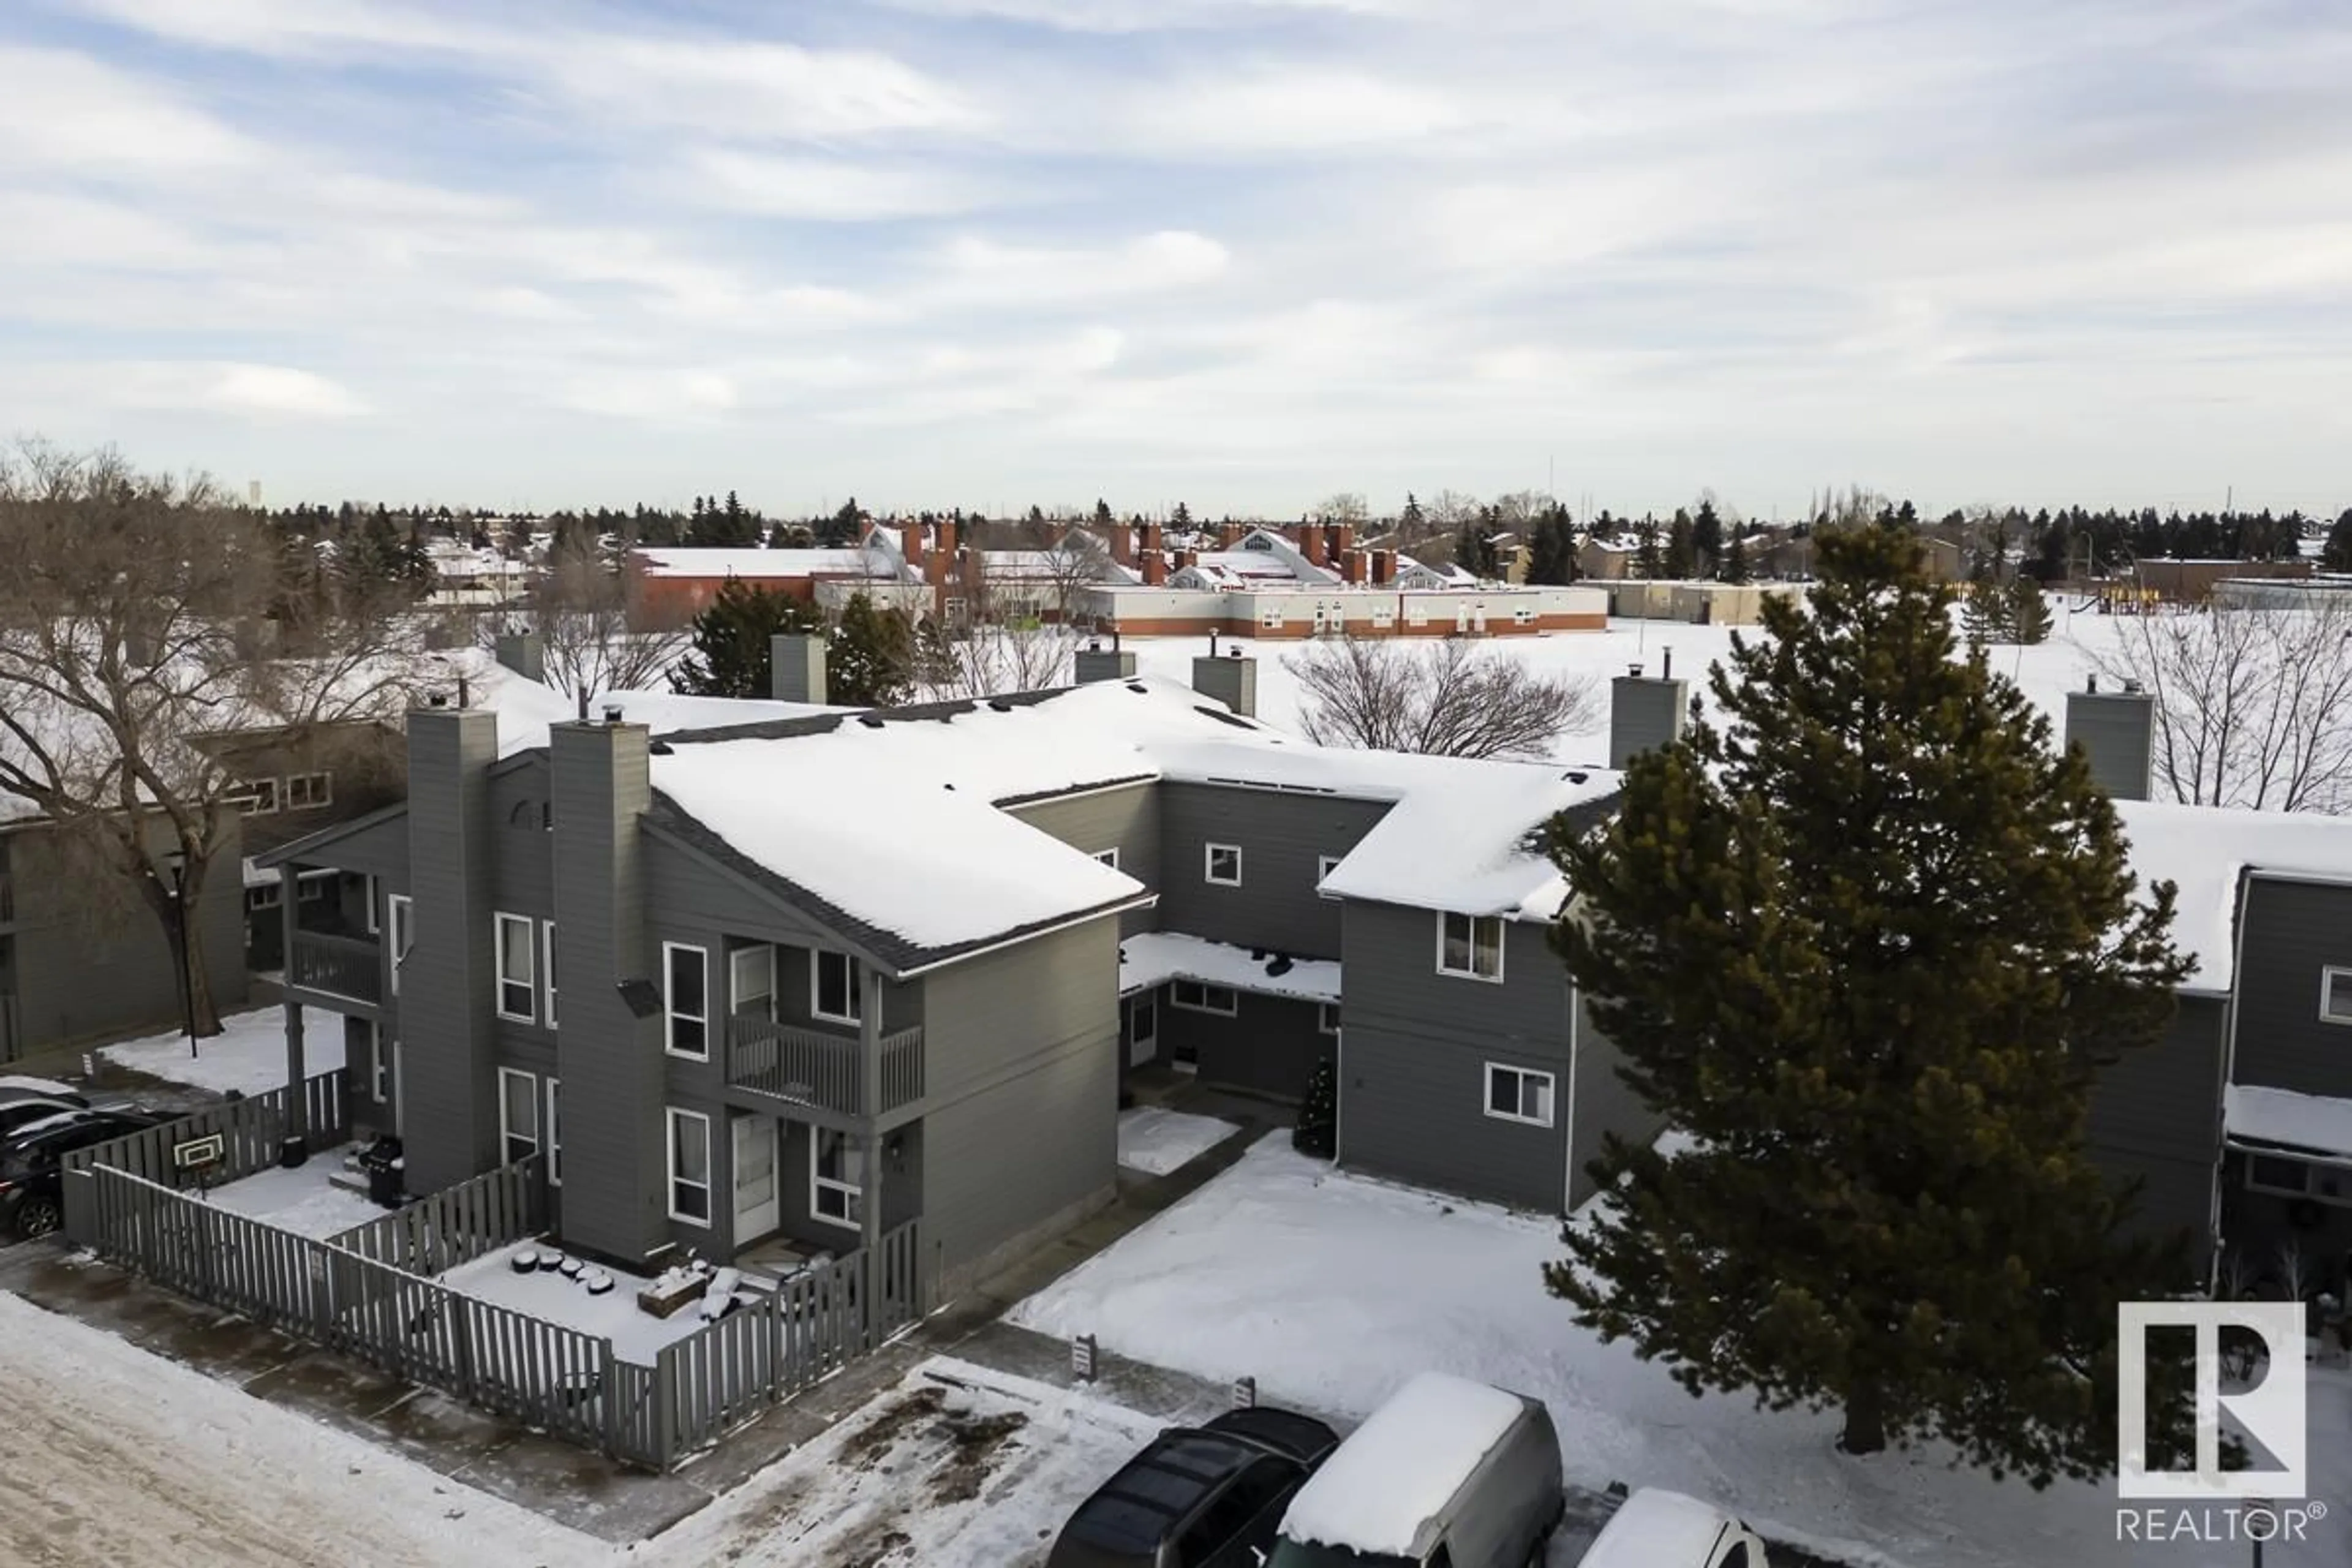
[[[1524,1410],[1517,1394],[1421,1373],[1298,1488],[1282,1535],[1421,1561],[1437,1544],[1437,1514]]]

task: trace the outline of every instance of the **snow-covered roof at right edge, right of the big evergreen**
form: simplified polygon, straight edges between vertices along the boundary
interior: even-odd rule
[[[2140,882],[2176,882],[2173,945],[2197,959],[2187,992],[2227,992],[2237,971],[2237,900],[2246,872],[2352,877],[2352,820],[2317,811],[2230,811],[2119,799]]]

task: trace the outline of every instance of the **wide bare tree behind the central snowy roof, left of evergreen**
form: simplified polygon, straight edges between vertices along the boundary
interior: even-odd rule
[[[1317,745],[1442,757],[1548,757],[1599,719],[1590,677],[1536,675],[1494,646],[1338,637],[1287,654]]]

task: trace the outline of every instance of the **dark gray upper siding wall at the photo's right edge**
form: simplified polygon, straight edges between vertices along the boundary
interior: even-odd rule
[[[2319,973],[2352,969],[2352,884],[2249,877],[2232,1077],[2352,1095],[2352,1025],[2321,1023]]]

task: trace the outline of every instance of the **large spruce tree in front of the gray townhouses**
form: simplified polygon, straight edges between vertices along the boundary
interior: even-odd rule
[[[1839,1406],[2034,1486],[2114,1465],[2117,1302],[2192,1284],[2084,1152],[2096,1067],[2192,969],[2114,804],[1980,654],[1900,529],[1818,538],[1717,719],[1548,830],[1555,943],[1623,1077],[1691,1145],[1604,1140],[1550,1288],[1693,1394]],[[2164,1387],[2171,1387],[2169,1382]],[[2159,1413],[2180,1436],[2180,1410]]]

